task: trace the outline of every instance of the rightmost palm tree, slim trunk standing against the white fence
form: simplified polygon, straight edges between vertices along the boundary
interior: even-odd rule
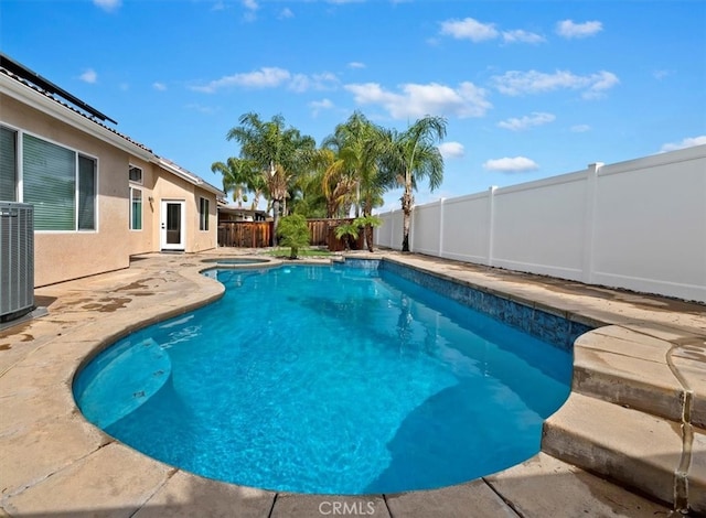
[[[443,158],[437,142],[446,137],[446,119],[426,116],[403,132],[387,130],[381,165],[389,186],[402,186],[403,239],[402,250],[409,251],[413,190],[427,180],[434,191],[443,180]]]

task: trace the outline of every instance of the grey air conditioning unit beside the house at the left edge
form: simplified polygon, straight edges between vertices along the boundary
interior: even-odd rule
[[[34,309],[34,207],[0,202],[0,322]]]

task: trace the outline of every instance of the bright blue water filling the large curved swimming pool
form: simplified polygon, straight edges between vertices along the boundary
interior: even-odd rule
[[[571,354],[385,269],[213,270],[220,301],[82,370],[86,418],[165,463],[275,490],[435,488],[539,450]]]

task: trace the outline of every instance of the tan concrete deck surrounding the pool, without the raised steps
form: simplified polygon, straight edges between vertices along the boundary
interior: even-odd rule
[[[75,373],[131,331],[222,296],[223,287],[201,273],[214,268],[202,259],[216,255],[236,257],[223,249],[194,256],[148,255],[128,270],[40,288],[36,290],[40,299],[54,299],[49,304],[49,315],[0,332],[0,416],[13,417],[9,421],[3,419],[0,425],[2,464],[13,466],[0,473],[0,507],[4,512],[76,516],[100,510],[110,516],[143,517],[161,516],[169,510],[180,516],[192,511],[232,516],[237,509],[237,516],[293,517],[331,515],[338,503],[339,510],[357,515],[463,516],[460,509],[472,501],[488,514],[534,516],[535,510],[541,516],[538,512],[550,510],[552,506],[565,511],[567,505],[589,506],[598,512],[611,508],[616,498],[623,501],[624,509],[635,509],[634,516],[640,516],[638,509],[666,509],[544,453],[492,476],[429,492],[361,497],[267,492],[210,481],[159,463],[87,423],[71,395]],[[596,288],[580,283],[425,256],[396,252],[351,256],[384,257],[584,322],[618,326],[654,324],[653,334],[661,336],[668,331],[680,338],[706,336],[706,309],[697,304],[616,290],[597,292]],[[271,266],[287,263],[271,262]],[[322,262],[328,260],[297,261]],[[561,291],[553,294],[546,288],[537,288],[542,282]],[[571,290],[575,293],[588,290],[590,294],[569,296]],[[603,293],[602,303],[596,293]],[[653,302],[663,305],[651,310]],[[671,309],[666,311],[665,306]],[[135,319],[136,313],[139,320]],[[557,499],[554,495],[557,485],[573,497],[570,503]],[[537,487],[550,489],[547,495],[552,497],[542,496]],[[479,510],[478,516],[484,515]]]

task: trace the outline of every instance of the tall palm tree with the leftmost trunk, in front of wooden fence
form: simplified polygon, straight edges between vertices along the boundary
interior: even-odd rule
[[[263,121],[259,115],[247,112],[238,119],[226,138],[240,144],[240,158],[252,161],[261,171],[272,203],[274,240],[280,208],[286,213],[286,197],[292,177],[307,166],[315,149],[315,141],[296,128],[286,128],[285,118],[276,115]]]

